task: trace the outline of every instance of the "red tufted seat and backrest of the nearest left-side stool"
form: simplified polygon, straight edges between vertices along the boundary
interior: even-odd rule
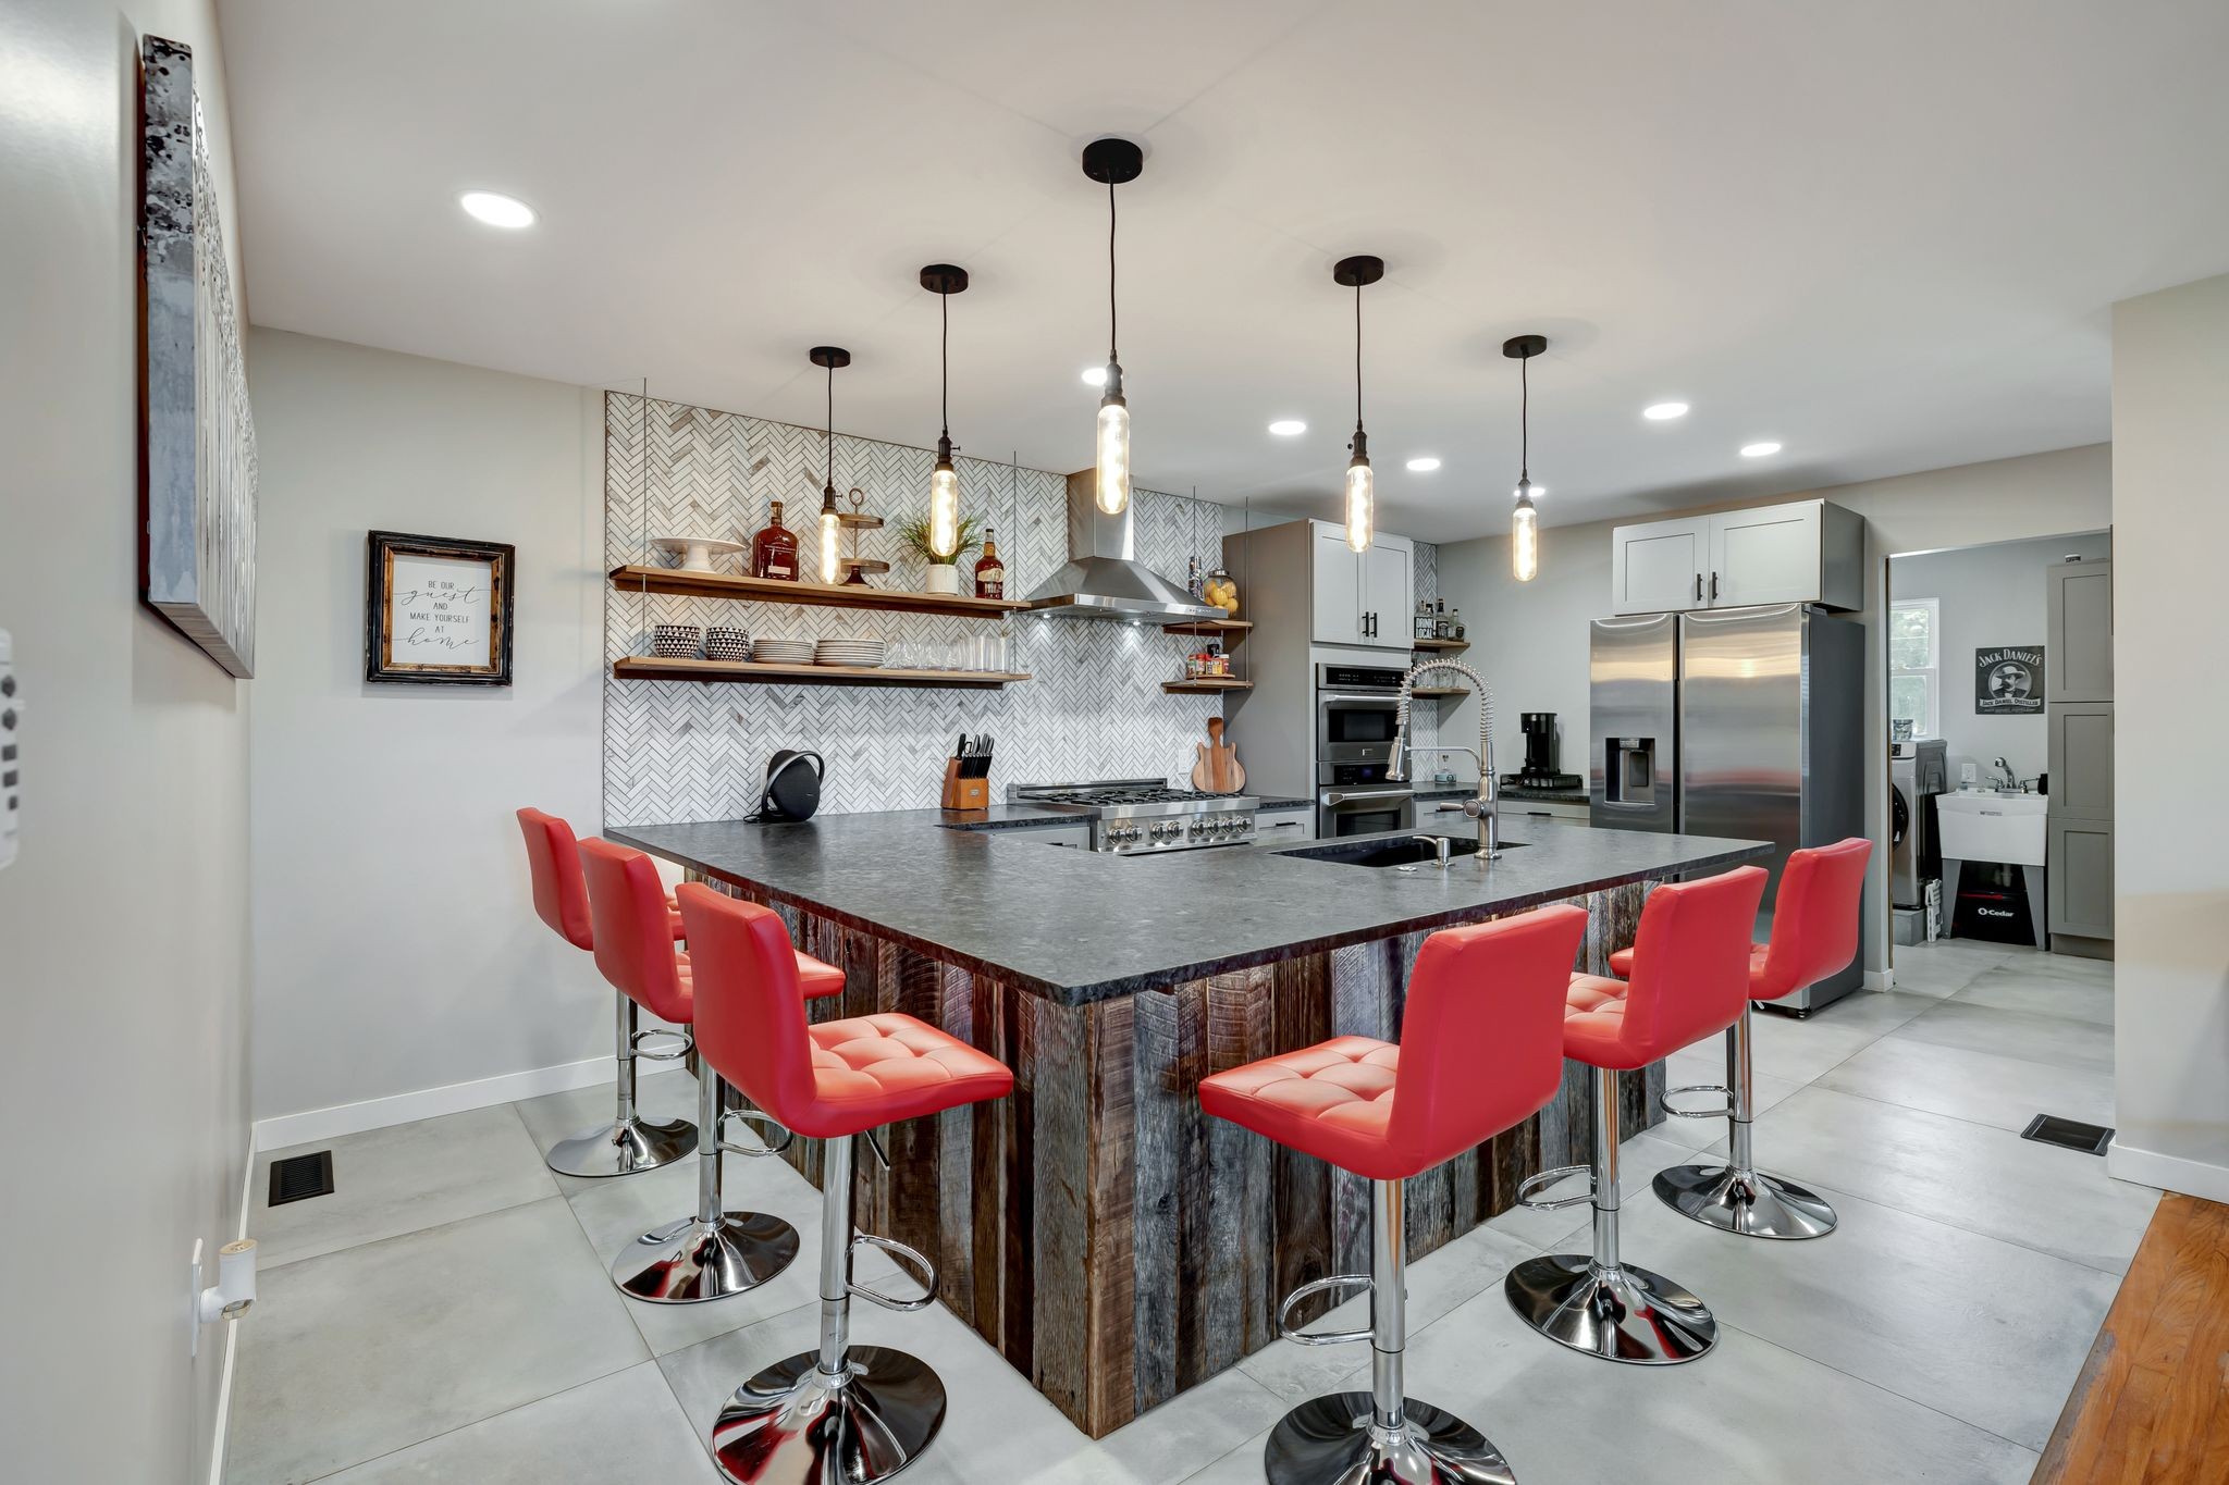
[[[807,1024],[798,955],[771,911],[695,882],[680,888],[695,951],[698,1053],[809,1140],[1005,1098],[1014,1073],[912,1015]]]

